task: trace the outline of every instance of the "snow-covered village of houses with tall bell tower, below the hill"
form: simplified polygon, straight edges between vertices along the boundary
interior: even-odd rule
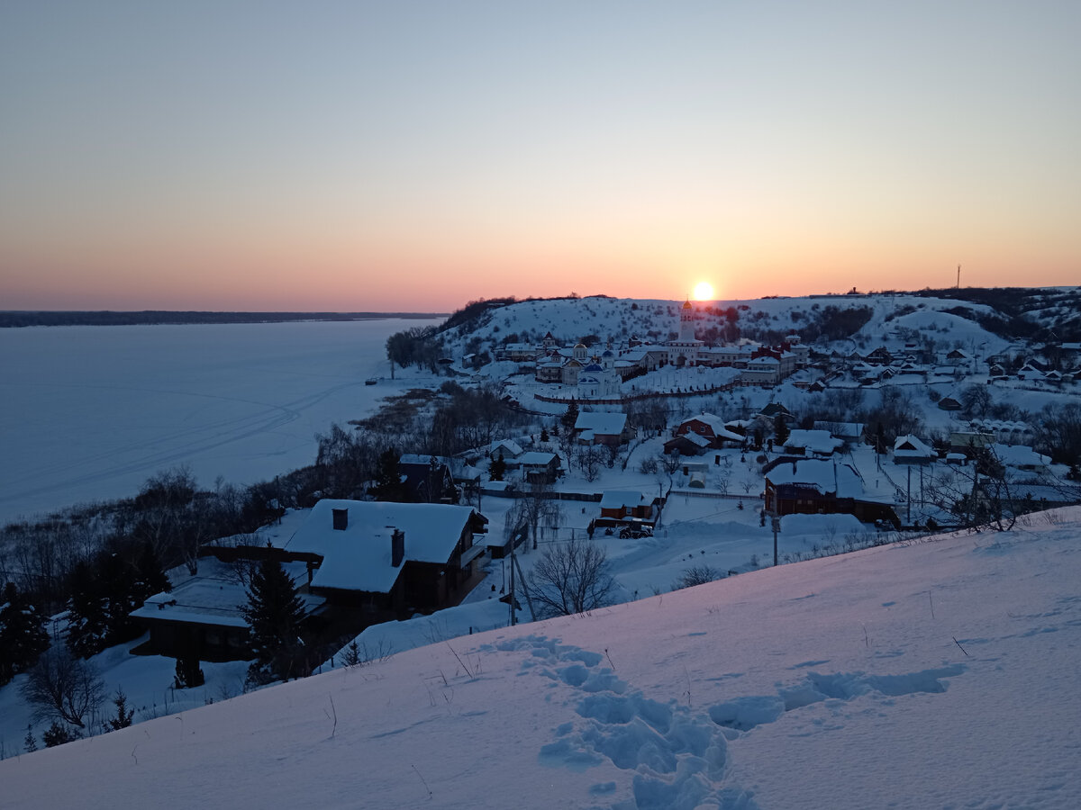
[[[1079,500],[1071,470],[1033,448],[1036,426],[990,418],[986,396],[1071,387],[1076,346],[1060,347],[1063,372],[1035,353],[929,354],[915,341],[814,352],[796,333],[711,348],[702,325],[686,301],[663,345],[560,346],[548,330],[493,346],[503,396],[534,415],[530,430],[453,457],[397,455],[396,502],[374,489],[379,500],[323,499],[256,542],[209,544],[197,575],[133,613],[149,631],[141,651],[189,670],[250,657],[237,571],[257,561],[297,586],[309,651],[295,674],[308,674],[542,618],[534,565],[568,543],[603,549],[613,581],[597,604],[610,604],[678,588],[692,568],[708,581]],[[471,360],[451,370],[491,384]],[[800,407],[866,392],[900,417]]]

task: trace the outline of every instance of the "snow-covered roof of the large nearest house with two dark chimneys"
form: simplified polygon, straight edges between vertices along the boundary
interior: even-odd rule
[[[332,510],[347,510],[344,529],[334,528]],[[322,556],[312,586],[387,593],[401,572],[390,564],[395,529],[405,534],[404,561],[445,563],[472,513],[470,507],[444,503],[323,499],[285,549]]]

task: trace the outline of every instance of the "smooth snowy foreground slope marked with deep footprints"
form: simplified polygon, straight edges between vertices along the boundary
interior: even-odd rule
[[[6,759],[2,804],[1076,808],[1079,583],[1078,508],[787,565]]]

